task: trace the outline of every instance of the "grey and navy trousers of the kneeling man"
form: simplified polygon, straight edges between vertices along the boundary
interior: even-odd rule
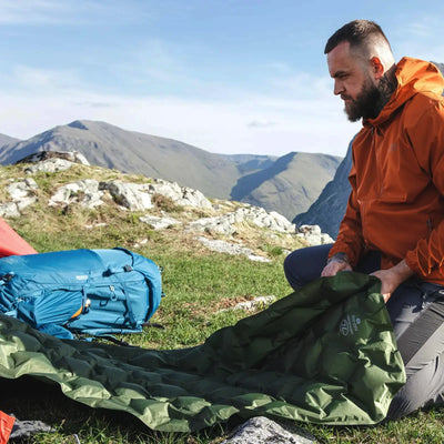
[[[284,272],[293,289],[321,275],[331,246],[301,249],[286,256]],[[380,253],[370,252],[355,271],[371,273],[380,264]],[[395,420],[444,403],[444,286],[408,280],[396,289],[386,307],[407,375],[389,408],[387,420]]]

